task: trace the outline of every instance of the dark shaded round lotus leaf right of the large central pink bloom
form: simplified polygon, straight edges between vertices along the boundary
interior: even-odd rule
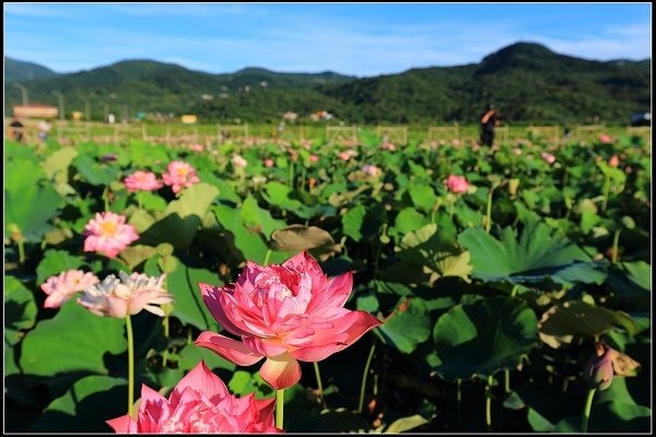
[[[513,369],[538,345],[538,319],[515,298],[493,297],[457,305],[433,329],[434,370],[448,380],[488,377]]]

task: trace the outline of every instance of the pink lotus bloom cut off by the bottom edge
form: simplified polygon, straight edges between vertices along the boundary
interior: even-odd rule
[[[118,434],[280,433],[273,426],[274,399],[230,394],[225,383],[201,361],[177,383],[168,399],[145,385],[137,420],[106,421]]]

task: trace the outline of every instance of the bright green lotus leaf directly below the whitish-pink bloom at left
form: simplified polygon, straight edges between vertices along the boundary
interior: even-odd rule
[[[71,299],[23,340],[21,368],[60,388],[86,375],[108,375],[106,355],[127,350],[125,320],[91,314]]]

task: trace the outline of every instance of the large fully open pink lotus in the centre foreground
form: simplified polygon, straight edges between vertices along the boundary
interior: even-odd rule
[[[274,389],[301,379],[297,361],[321,361],[382,324],[367,312],[343,308],[351,272],[328,279],[306,251],[281,265],[248,261],[237,282],[224,287],[199,285],[210,312],[242,341],[204,331],[196,344],[241,366],[266,357],[260,375]]]

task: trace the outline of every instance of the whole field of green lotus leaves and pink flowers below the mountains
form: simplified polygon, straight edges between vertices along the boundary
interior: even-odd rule
[[[5,142],[4,430],[649,432],[651,144]]]

